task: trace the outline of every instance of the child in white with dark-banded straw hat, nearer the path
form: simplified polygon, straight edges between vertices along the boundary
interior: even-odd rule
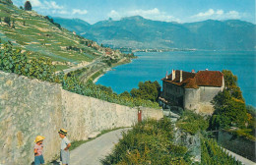
[[[58,133],[59,137],[62,138],[60,145],[60,161],[63,165],[68,165],[70,160],[69,147],[71,146],[70,140],[66,137],[68,132],[61,129]]]

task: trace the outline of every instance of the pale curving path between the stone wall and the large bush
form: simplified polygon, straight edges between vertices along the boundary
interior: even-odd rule
[[[71,151],[71,165],[100,165],[100,159],[111,153],[114,144],[122,138],[121,133],[129,129],[109,132]]]

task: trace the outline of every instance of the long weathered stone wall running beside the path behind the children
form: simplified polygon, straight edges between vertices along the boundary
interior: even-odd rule
[[[34,138],[44,139],[44,158],[59,153],[59,129],[71,140],[98,131],[130,127],[142,119],[162,118],[162,111],[130,108],[63,90],[59,84],[0,72],[0,164],[31,164]]]

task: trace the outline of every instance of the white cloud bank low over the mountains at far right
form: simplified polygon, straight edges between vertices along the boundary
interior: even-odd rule
[[[209,9],[205,13],[198,13],[197,15],[192,16],[191,18],[200,21],[206,19],[213,19],[213,20],[227,20],[227,19],[240,19],[242,14],[237,11],[229,11],[224,12],[224,10],[214,10]]]

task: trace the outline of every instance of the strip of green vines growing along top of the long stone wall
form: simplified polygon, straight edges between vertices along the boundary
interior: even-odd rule
[[[50,83],[61,83],[62,87],[68,91],[112,103],[129,107],[144,106],[160,108],[156,102],[141,98],[126,97],[121,94],[118,95],[111,89],[109,90],[107,87],[92,83],[91,81],[82,83],[73,74],[64,75],[63,72],[56,74],[56,68],[52,65],[49,58],[29,58],[26,53],[22,53],[20,48],[15,48],[11,44],[4,44],[3,49],[0,50],[0,70]]]

